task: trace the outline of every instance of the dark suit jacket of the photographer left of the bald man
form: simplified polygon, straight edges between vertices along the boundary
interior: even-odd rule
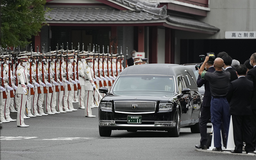
[[[206,72],[215,72],[215,68],[210,67],[208,70],[206,70]],[[211,107],[212,94],[210,90],[209,81],[202,79],[201,76],[199,75],[196,83],[198,87],[202,87],[204,85],[204,99],[202,106]]]

